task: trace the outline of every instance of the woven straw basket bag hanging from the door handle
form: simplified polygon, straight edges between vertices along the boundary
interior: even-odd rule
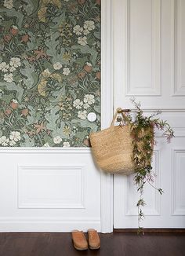
[[[128,112],[129,110],[125,110]],[[111,174],[132,174],[134,163],[132,161],[132,137],[130,125],[114,126],[118,113],[125,113],[117,108],[111,127],[90,134],[90,142],[94,159],[100,168]]]

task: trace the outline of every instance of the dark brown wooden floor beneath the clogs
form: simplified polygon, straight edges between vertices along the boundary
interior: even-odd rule
[[[98,251],[76,251],[71,233],[0,233],[1,256],[184,256],[185,234],[100,234]]]

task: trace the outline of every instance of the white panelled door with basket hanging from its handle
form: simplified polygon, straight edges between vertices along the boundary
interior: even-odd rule
[[[114,107],[161,109],[175,131],[171,144],[158,137],[155,184],[146,186],[145,228],[185,228],[185,1],[117,0],[113,3]],[[157,134],[158,135],[158,134]],[[114,175],[114,228],[137,228],[133,177]]]

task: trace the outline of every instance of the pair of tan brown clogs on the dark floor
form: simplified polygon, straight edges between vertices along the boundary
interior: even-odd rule
[[[74,248],[79,251],[85,251],[88,249],[97,250],[100,248],[100,237],[95,229],[88,229],[88,240],[85,238],[85,234],[82,231],[72,231],[72,241]]]

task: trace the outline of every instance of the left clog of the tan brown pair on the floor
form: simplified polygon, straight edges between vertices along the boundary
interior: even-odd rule
[[[82,231],[72,231],[72,240],[75,249],[79,251],[85,251],[88,249],[88,243]]]

